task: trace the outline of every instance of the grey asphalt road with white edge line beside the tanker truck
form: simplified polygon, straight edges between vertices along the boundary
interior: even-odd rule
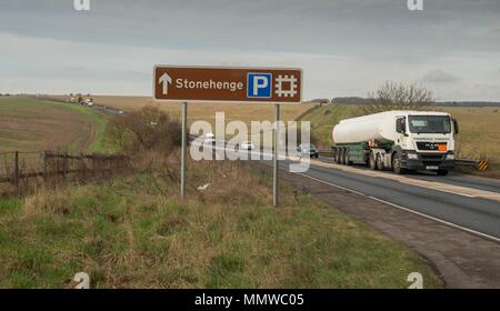
[[[330,162],[329,159],[320,161]],[[271,164],[269,161],[267,163]],[[287,170],[289,163],[281,161],[280,169]],[[348,168],[346,171],[343,168],[311,163],[310,169],[301,175],[500,241],[500,181],[459,174],[438,177],[413,173],[400,179],[391,172],[371,173],[362,167]],[[411,184],[412,181],[416,184]]]

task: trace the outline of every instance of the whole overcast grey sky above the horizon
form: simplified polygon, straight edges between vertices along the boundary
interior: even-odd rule
[[[500,0],[0,0],[0,92],[151,96],[156,63],[300,67],[304,98],[386,80],[500,101]]]

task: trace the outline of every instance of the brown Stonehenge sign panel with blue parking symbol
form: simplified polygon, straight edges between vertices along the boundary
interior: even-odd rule
[[[154,100],[299,103],[302,70],[156,66]]]

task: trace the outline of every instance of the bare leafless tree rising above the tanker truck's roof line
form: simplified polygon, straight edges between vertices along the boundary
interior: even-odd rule
[[[374,93],[369,94],[368,103],[360,107],[360,114],[389,110],[428,110],[433,102],[432,91],[424,87],[386,81]]]

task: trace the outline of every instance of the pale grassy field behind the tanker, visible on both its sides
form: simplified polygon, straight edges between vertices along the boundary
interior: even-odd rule
[[[436,108],[457,118],[460,133],[457,138],[457,153],[463,159],[488,160],[489,172],[483,175],[500,177],[500,109],[499,108]],[[312,140],[321,148],[332,146],[331,132],[342,119],[357,116],[352,104],[318,107],[303,114],[301,120],[311,121]]]

